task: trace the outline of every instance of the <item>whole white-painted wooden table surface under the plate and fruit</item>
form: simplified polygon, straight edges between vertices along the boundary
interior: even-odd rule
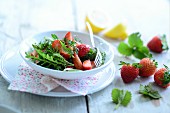
[[[0,0],[0,56],[37,32],[86,32],[84,19],[86,12],[92,8],[107,12],[111,17],[110,25],[126,21],[128,32],[139,31],[145,42],[157,34],[166,34],[168,40],[170,38],[169,0]],[[103,38],[115,47],[119,43]],[[154,57],[162,66],[170,61],[168,55],[169,52]],[[124,84],[120,78],[120,60],[132,61],[115,56],[117,69],[114,81],[107,88],[87,96],[52,98],[9,91],[9,83],[0,76],[0,106],[8,106],[21,113],[170,113],[170,89],[154,86],[163,97],[160,100],[142,97],[137,92],[139,85],[147,84],[153,78],[139,78],[131,84]],[[170,66],[170,63],[167,65]],[[113,88],[132,92],[132,101],[127,107],[114,111],[115,104],[111,100]],[[0,107],[0,113],[2,110]]]

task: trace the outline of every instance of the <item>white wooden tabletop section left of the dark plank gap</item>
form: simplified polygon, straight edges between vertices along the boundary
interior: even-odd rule
[[[75,30],[72,4],[71,0],[0,0],[0,55],[35,33],[47,30]],[[87,112],[84,96],[43,97],[9,91],[8,85],[0,76],[0,105],[9,106],[18,112]]]

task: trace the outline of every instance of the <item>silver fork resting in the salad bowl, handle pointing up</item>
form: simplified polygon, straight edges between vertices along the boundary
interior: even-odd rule
[[[93,48],[96,48],[95,44],[94,44],[94,37],[93,37],[92,28],[91,28],[89,22],[86,22],[86,25],[87,25],[87,28],[88,28],[88,31],[89,31],[89,34],[90,34],[91,44],[92,44]],[[95,60],[94,60],[94,64],[95,64],[96,67],[99,67],[102,64],[102,55],[101,55],[101,52],[98,48],[96,48],[96,50],[97,50],[97,54],[96,54],[96,57],[95,57]]]

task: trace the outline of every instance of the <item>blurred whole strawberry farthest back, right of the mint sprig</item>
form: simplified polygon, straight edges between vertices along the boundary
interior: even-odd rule
[[[161,53],[162,51],[169,49],[165,35],[153,37],[152,40],[149,41],[147,46],[149,50],[156,53]]]

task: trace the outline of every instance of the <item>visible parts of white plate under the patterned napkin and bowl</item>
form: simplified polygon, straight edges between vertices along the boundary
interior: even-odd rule
[[[17,74],[18,66],[23,62],[21,56],[18,51],[19,47],[14,47],[13,49],[7,51],[0,59],[0,72],[3,78],[9,83],[14,79]],[[92,94],[97,92],[106,86],[108,86],[114,79],[115,76],[115,65],[111,63],[106,67],[108,71],[103,74],[100,78],[97,85],[95,85],[92,90],[88,92],[88,94]],[[106,69],[105,68],[105,69]],[[66,90],[63,87],[56,88],[55,90],[48,92],[46,94],[37,94],[42,96],[50,96],[50,97],[73,97],[73,96],[81,96],[80,94],[76,94]]]

